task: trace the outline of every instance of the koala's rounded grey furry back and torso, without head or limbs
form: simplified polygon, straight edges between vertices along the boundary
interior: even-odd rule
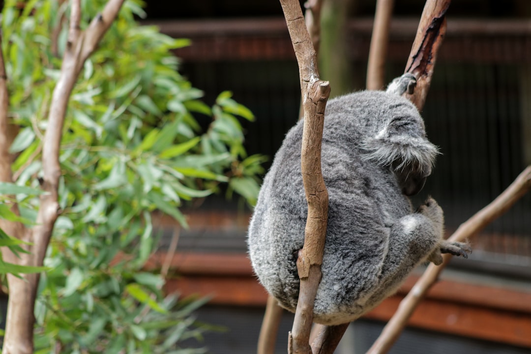
[[[322,172],[329,213],[314,307],[314,321],[325,324],[353,321],[365,312],[387,255],[390,227],[411,212],[389,168],[364,158],[356,145],[364,138],[364,125],[378,119],[374,105],[390,104],[384,94],[377,96],[381,102],[367,102],[364,94],[331,100],[325,115]],[[297,252],[304,244],[307,214],[301,144],[299,122],[286,135],[264,178],[248,239],[261,283],[292,311],[299,288]]]

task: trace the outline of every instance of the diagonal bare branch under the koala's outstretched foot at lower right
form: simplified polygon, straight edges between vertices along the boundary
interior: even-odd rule
[[[464,241],[476,235],[492,221],[499,218],[513,204],[523,197],[531,188],[531,166],[528,166],[515,181],[494,201],[478,211],[474,216],[461,224],[449,238],[451,241]],[[415,308],[426,296],[427,291],[439,278],[440,273],[450,261],[451,255],[443,255],[443,263],[439,266],[430,264],[408,295],[401,301],[397,312],[384,327],[378,339],[367,351],[367,354],[382,354],[389,351],[392,344],[404,329]]]

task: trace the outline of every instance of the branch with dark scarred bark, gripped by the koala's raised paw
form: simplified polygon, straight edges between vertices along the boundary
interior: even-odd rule
[[[437,53],[446,34],[446,11],[450,0],[426,0],[417,34],[406,64],[406,73],[415,75],[417,87],[405,96],[422,111],[430,89]]]

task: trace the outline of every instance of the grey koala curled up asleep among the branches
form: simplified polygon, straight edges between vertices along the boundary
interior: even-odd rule
[[[422,189],[438,154],[416,107],[400,96],[412,80],[404,75],[388,91],[361,91],[328,102],[321,167],[329,209],[316,323],[352,322],[392,295],[418,264],[440,264],[441,253],[467,257],[471,251],[467,244],[443,239],[443,212],[432,198],[416,211],[408,198]],[[302,131],[299,122],[276,153],[247,237],[254,272],[292,312],[307,216]]]

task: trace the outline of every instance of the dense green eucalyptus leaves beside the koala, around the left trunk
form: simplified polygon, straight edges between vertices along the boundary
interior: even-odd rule
[[[82,1],[82,29],[103,4]],[[19,153],[16,188],[38,188],[42,136],[66,43],[62,17],[69,11],[68,2],[30,1],[22,9],[5,2],[10,115],[21,126],[11,146]],[[134,15],[144,15],[142,3],[126,1],[85,63],[68,106],[59,159],[63,212],[39,284],[38,353],[203,352],[181,350],[178,342],[201,337],[191,313],[204,300],[164,298],[164,279],[142,272],[157,245],[151,213],[162,211],[187,227],[179,207],[218,193],[221,183],[228,195],[256,200],[264,159],[246,155],[239,122],[254,119],[252,113],[228,91],[212,107],[201,101],[203,93],[178,73],[170,53],[189,41],[141,27]],[[211,117],[204,131],[198,114]],[[24,191],[0,185],[0,193]],[[35,193],[18,201],[24,220],[35,222]]]

